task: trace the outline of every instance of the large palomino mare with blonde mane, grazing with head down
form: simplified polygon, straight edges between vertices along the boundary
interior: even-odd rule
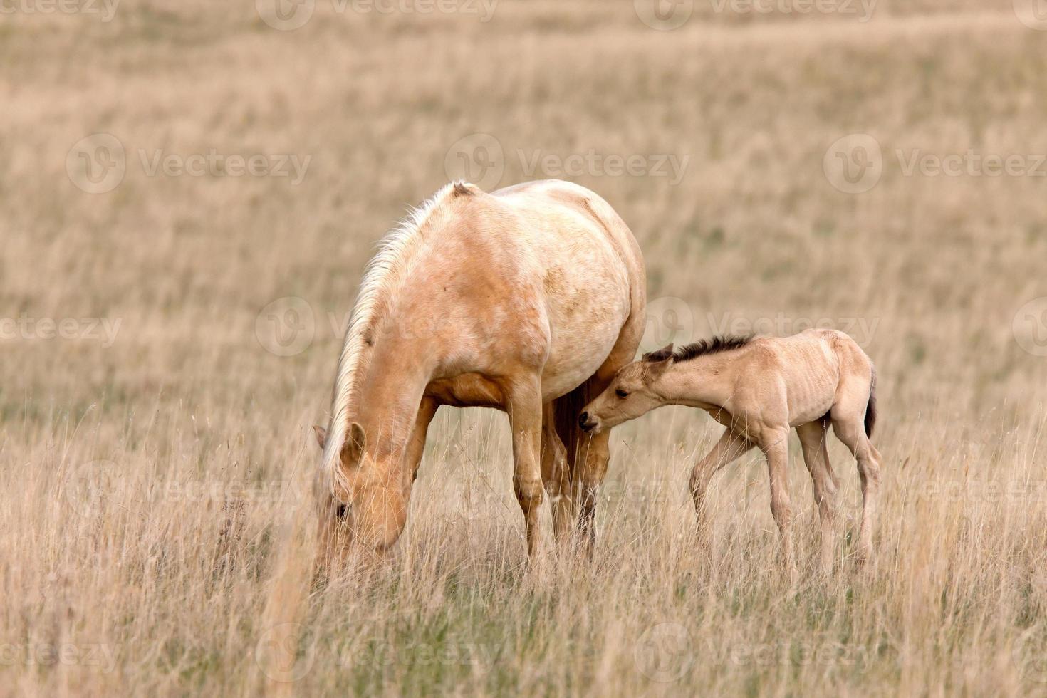
[[[636,356],[645,296],[640,247],[593,192],[554,180],[438,192],[360,285],[330,428],[316,427],[321,544],[396,542],[429,422],[452,405],[508,412],[530,554],[543,483],[557,539],[577,521],[591,549],[608,437],[582,434],[578,412]]]

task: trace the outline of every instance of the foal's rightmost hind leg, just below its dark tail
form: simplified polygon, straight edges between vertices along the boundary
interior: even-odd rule
[[[865,433],[865,410],[868,403],[868,378],[846,379],[840,386],[837,404],[831,411],[832,430],[857,459],[863,500],[857,549],[862,560],[872,559],[872,527],[879,494],[879,451]]]

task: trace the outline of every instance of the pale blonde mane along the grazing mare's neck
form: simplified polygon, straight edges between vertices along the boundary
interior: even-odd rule
[[[337,467],[339,453],[353,408],[356,406],[358,378],[366,369],[371,358],[374,328],[388,299],[406,279],[417,252],[422,247],[422,226],[449,196],[471,195],[476,192],[463,182],[450,182],[420,206],[413,207],[407,216],[378,243],[378,253],[367,263],[360,282],[360,290],[353,306],[352,318],[338,359],[338,375],[334,384],[331,407],[331,427],[324,446],[322,469],[331,478],[331,486],[341,480]]]

